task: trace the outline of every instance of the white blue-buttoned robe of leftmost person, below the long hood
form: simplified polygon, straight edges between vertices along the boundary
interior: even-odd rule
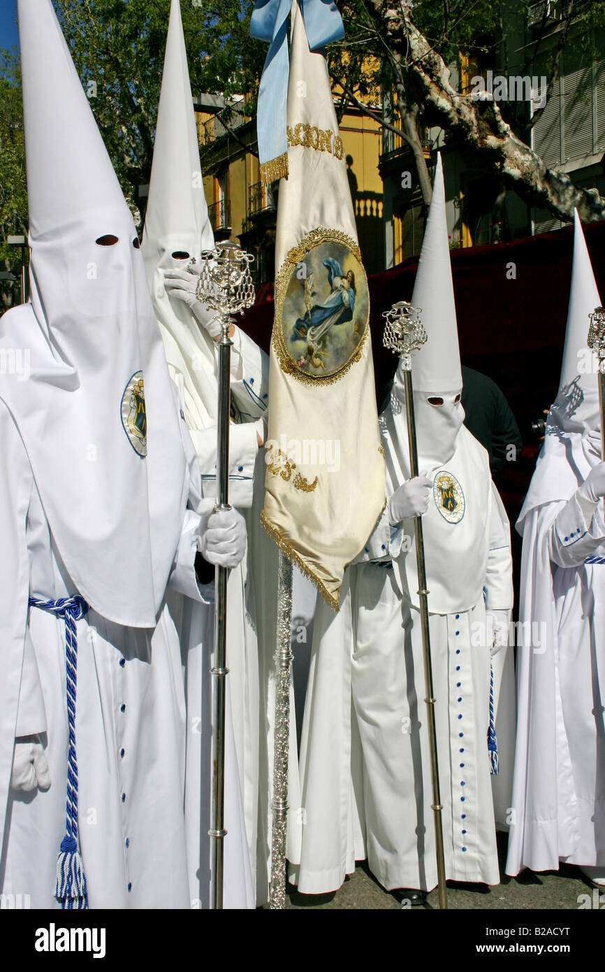
[[[3,401],[0,438],[0,886],[3,893],[29,894],[33,908],[58,908],[53,895],[65,833],[68,749],[65,627],[62,619],[27,604],[29,595],[47,600],[78,592]],[[193,571],[199,517],[192,510],[184,515],[169,586],[201,600]],[[185,693],[170,611],[164,605],[153,631],[122,627],[90,609],[77,629],[79,839],[89,906],[189,907]],[[13,791],[14,740],[32,733],[43,734],[50,789]]]

